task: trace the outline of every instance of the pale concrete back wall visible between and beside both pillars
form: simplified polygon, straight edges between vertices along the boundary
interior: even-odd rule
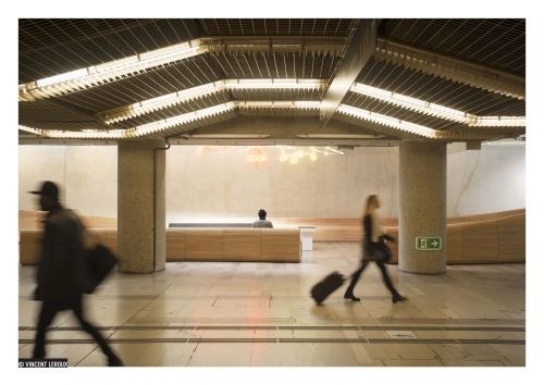
[[[346,156],[317,154],[281,161],[267,148],[264,163],[248,153],[197,156],[196,147],[166,151],[166,223],[196,218],[358,218],[362,201],[378,194],[383,216],[398,216],[398,148],[358,148]],[[115,146],[18,146],[18,208],[36,210],[40,181],[58,182],[69,208],[86,215],[118,214]],[[294,153],[288,151],[288,153]],[[254,156],[258,153],[251,153]],[[449,153],[447,216],[526,207],[524,147],[482,146]]]

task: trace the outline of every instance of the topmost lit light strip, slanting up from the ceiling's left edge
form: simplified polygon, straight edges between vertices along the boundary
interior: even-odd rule
[[[27,83],[18,87],[18,100],[33,101],[32,98],[44,99],[63,95],[90,87],[97,83],[110,82],[115,77],[126,76],[157,65],[207,52],[208,49],[200,48],[199,42],[200,40],[182,42],[168,48]]]

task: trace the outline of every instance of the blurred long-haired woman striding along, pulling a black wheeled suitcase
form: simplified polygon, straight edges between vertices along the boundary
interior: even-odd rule
[[[393,295],[393,303],[396,303],[405,300],[406,298],[399,295],[393,287],[390,276],[387,275],[387,270],[385,269],[385,263],[390,260],[392,252],[387,245],[385,245],[384,239],[391,241],[395,241],[395,239],[392,236],[384,234],[380,216],[378,216],[375,212],[375,209],[379,208],[380,200],[378,199],[378,196],[371,195],[367,200],[362,220],[364,226],[364,238],[362,240],[362,265],[359,270],[351,274],[351,282],[349,283],[344,298],[353,301],[361,300],[360,298],[354,296],[354,288],[364,268],[367,268],[370,261],[374,261],[382,272],[385,286],[387,286]]]

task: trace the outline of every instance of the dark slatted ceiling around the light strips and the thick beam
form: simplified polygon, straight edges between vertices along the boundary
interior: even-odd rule
[[[313,116],[319,120],[319,108],[300,107],[297,102],[323,99],[327,91],[323,85],[331,84],[338,66],[350,59],[344,57],[345,47],[357,23],[357,20],[337,18],[22,18],[18,21],[18,83],[28,89],[36,86],[34,82],[50,76],[135,55],[141,59],[146,53],[181,44],[194,49],[195,54],[77,87],[63,88],[53,84],[48,88],[53,91],[50,96],[42,97],[38,92],[39,98],[34,98],[26,94],[26,100],[32,101],[18,103],[20,127],[41,135],[47,132],[40,129],[107,133],[195,112],[200,114],[196,120],[140,136],[146,138],[190,133],[196,127],[239,115],[256,119]],[[502,123],[468,125],[356,91],[348,91],[342,105],[432,131],[458,133],[454,139],[448,139],[454,141],[469,140],[472,134],[486,134],[482,139],[524,134],[524,20],[383,20],[378,34],[379,48],[357,76],[356,84],[413,98],[421,103],[455,109],[474,119],[518,116],[523,123],[506,127]],[[197,48],[200,51],[197,52]],[[440,58],[440,62],[431,63],[429,58]],[[262,83],[255,87],[218,86],[222,80],[242,84],[249,79],[272,82],[274,88],[263,87]],[[321,85],[279,85],[289,79],[297,84],[321,82]],[[220,88],[176,103],[163,103],[109,124],[104,121],[112,110],[129,110],[149,103],[150,99],[195,87]],[[239,103],[246,101],[264,103],[240,108],[244,104]],[[270,105],[288,101],[292,105]],[[219,112],[201,113],[220,105],[227,107]],[[370,129],[393,142],[429,140],[388,123],[356,115],[338,111],[333,121],[347,122],[361,132]],[[265,124],[267,121],[259,122]],[[256,127],[256,132],[260,129],[262,126]],[[28,136],[25,131],[21,133]],[[463,137],[465,134],[468,136]]]

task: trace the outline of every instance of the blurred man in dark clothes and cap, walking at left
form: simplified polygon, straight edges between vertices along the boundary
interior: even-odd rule
[[[35,299],[42,301],[38,318],[38,331],[33,358],[46,357],[46,330],[54,315],[62,310],[72,310],[82,324],[98,343],[108,358],[109,367],[122,367],[121,359],[113,353],[100,333],[83,316],[82,298],[90,285],[84,257],[84,228],[71,210],[59,203],[59,188],[52,182],[45,182],[41,190],[30,191],[40,196],[45,220],[41,258],[38,265]]]

